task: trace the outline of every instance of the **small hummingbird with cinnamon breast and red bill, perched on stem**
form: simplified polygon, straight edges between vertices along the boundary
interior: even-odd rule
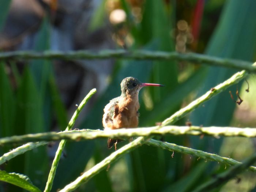
[[[161,84],[141,83],[133,77],[124,78],[121,82],[121,95],[109,101],[104,108],[102,118],[103,127],[107,129],[135,128],[139,124],[139,91],[145,86],[158,86]],[[121,139],[108,139],[108,148],[122,141]]]

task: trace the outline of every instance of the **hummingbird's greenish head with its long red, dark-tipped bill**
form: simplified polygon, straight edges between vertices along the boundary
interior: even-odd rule
[[[155,84],[155,83],[141,83],[138,79],[134,77],[127,77],[124,78],[121,82],[121,91],[122,95],[134,95],[139,94],[139,91],[142,87],[145,86],[160,86],[161,84]]]

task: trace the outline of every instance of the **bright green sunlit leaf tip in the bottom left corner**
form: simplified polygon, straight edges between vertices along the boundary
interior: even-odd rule
[[[0,170],[0,181],[8,182],[30,192],[41,192],[40,189],[32,184],[29,177],[18,173],[7,173]]]

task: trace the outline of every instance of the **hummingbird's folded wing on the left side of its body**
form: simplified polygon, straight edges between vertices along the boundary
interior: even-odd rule
[[[103,115],[103,127],[109,128],[109,124],[113,123],[113,117],[114,117],[114,112],[115,112],[115,106],[117,105],[119,101],[119,98],[116,97],[112,100],[109,101],[108,105],[105,106],[104,108],[104,115]]]

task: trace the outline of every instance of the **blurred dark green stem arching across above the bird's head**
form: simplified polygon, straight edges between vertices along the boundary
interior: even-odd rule
[[[178,60],[189,61],[192,63],[200,63],[207,65],[215,65],[222,67],[229,67],[239,70],[246,70],[248,72],[256,72],[256,67],[252,63],[241,60],[222,59],[219,57],[208,56],[197,53],[177,53],[177,52],[162,52],[162,51],[148,51],[148,50],[101,50],[99,52],[91,50],[79,51],[14,51],[0,53],[0,59],[133,59],[133,60]]]

